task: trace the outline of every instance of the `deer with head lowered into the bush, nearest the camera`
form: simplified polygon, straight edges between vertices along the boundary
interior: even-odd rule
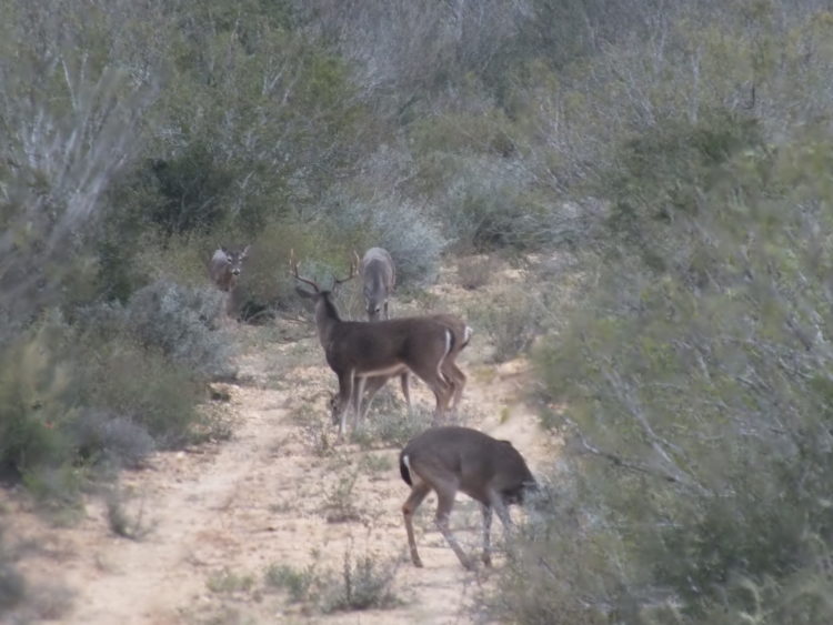
[[[508,506],[522,504],[538,484],[526,462],[509,441],[499,441],[470,427],[446,425],[431,427],[411,438],[399,456],[402,480],[411,494],[402,506],[411,562],[422,567],[413,535],[413,515],[431,491],[436,493],[436,527],[466,569],[472,561],[463,553],[449,527],[449,516],[458,491],[481,505],[483,513],[483,554],[485,566],[492,565],[492,511],[498,513],[506,538],[512,528]]]

